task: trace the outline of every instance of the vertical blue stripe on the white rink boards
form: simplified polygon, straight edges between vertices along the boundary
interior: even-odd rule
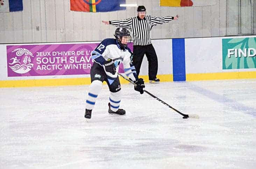
[[[185,39],[172,39],[173,81],[186,80]]]

